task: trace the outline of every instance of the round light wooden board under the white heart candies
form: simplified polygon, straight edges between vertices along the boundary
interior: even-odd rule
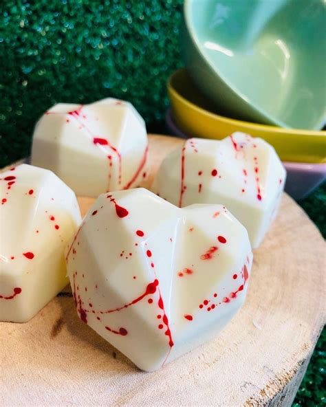
[[[153,173],[180,143],[150,137]],[[144,373],[78,319],[67,287],[30,322],[0,324],[1,406],[290,406],[324,323],[325,242],[284,195],[218,338]]]

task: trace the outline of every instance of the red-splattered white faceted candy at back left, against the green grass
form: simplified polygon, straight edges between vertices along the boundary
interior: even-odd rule
[[[32,164],[49,168],[76,195],[139,186],[148,175],[144,120],[129,103],[59,103],[36,124]]]

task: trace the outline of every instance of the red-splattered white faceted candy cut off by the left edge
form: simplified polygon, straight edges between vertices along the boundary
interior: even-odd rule
[[[0,320],[26,322],[68,283],[80,211],[61,179],[26,164],[0,174],[0,201]]]

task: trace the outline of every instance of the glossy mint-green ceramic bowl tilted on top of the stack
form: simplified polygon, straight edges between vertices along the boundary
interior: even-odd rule
[[[185,0],[188,72],[225,115],[321,129],[325,11],[324,0]]]

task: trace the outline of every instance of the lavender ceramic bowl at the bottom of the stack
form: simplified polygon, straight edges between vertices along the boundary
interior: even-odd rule
[[[172,135],[188,138],[173,122],[171,109],[166,112],[166,126]],[[293,199],[307,197],[326,179],[326,164],[307,164],[305,162],[283,162],[287,171],[285,192]]]

